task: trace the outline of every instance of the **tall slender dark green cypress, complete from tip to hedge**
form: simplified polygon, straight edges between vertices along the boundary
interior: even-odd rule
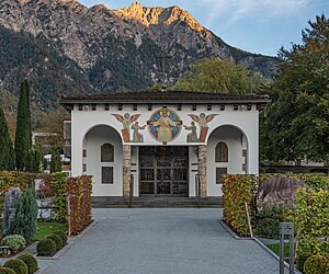
[[[29,152],[32,148],[30,89],[27,81],[21,84],[15,135],[15,160],[18,170],[25,170]]]

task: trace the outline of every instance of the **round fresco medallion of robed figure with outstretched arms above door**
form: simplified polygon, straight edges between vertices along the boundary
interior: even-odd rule
[[[179,136],[182,121],[175,112],[163,107],[150,116],[147,125],[150,136],[166,145]]]

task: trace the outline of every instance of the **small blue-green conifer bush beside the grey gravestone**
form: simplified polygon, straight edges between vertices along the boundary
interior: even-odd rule
[[[14,235],[21,235],[26,242],[31,242],[36,231],[37,204],[34,187],[24,192],[18,202],[15,215],[10,224]]]

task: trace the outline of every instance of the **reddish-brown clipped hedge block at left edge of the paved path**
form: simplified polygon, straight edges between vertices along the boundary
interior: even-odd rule
[[[69,233],[78,235],[91,222],[92,176],[68,178],[66,183]]]

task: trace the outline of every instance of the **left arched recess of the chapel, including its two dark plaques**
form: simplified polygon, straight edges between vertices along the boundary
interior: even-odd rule
[[[93,196],[123,195],[123,146],[111,126],[92,127],[83,138],[83,173],[92,175]]]

